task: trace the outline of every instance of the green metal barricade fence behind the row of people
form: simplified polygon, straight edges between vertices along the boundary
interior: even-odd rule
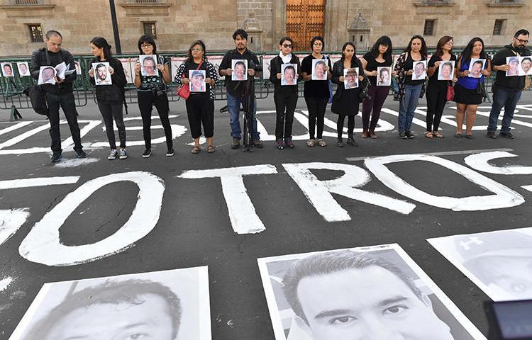
[[[308,52],[307,52],[308,53]],[[260,52],[256,53],[259,57],[262,64],[263,58],[267,55],[277,55],[276,52]],[[305,54],[305,52],[301,52]],[[329,52],[330,55],[338,55],[340,52]],[[489,52],[490,55],[494,54],[494,51]],[[185,57],[184,53],[162,53],[164,57],[170,59],[170,57]],[[220,55],[220,53],[211,52],[207,54],[207,57]],[[363,55],[363,53],[360,53]],[[116,55],[117,58],[135,58],[138,55]],[[89,102],[89,98],[93,98],[96,101],[94,96],[94,86],[89,81],[88,70],[91,67],[90,61],[93,59],[92,56],[75,56],[74,61],[79,63],[79,70],[77,74],[77,79],[74,81],[74,97],[76,98],[76,106],[86,106]],[[0,62],[11,62],[13,69],[13,77],[0,77],[0,109],[11,109],[13,108],[31,108],[31,101],[28,96],[23,94],[24,89],[29,86],[36,84],[32,77],[20,77],[18,72],[18,67],[13,67],[17,62],[27,62],[30,64],[30,58],[1,58]],[[171,65],[172,67],[172,65]],[[488,92],[491,92],[491,84],[494,79],[495,72],[492,73],[492,77],[486,81],[486,89]],[[303,82],[299,82],[299,96],[303,96]],[[336,89],[336,85],[333,84],[333,91]],[[169,84],[169,91],[167,92],[169,101],[179,101],[179,96],[176,94],[177,84],[172,82]],[[255,81],[255,96],[256,98],[267,98],[270,93],[273,93],[273,85],[270,83],[269,79],[261,78],[259,81]],[[392,94],[392,91],[390,91]],[[215,88],[215,100],[224,101],[226,100],[226,89],[224,86],[224,81],[221,79],[220,84]],[[127,103],[137,103],[136,96],[136,87],[134,84],[127,84],[126,86],[126,102]]]

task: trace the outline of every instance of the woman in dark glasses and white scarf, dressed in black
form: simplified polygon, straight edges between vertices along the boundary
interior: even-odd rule
[[[294,143],[292,142],[292,123],[294,122],[294,111],[296,110],[299,92],[297,89],[297,80],[300,78],[299,75],[296,75],[294,67],[287,66],[284,69],[284,80],[289,84],[287,74],[292,73],[291,77],[294,79],[293,84],[281,84],[282,64],[296,64],[298,72],[301,69],[299,67],[299,58],[292,53],[292,47],[294,47],[292,38],[282,38],[279,41],[279,55],[270,62],[270,81],[275,86],[273,99],[275,101],[275,111],[277,112],[275,119],[275,147],[277,149],[284,149],[284,147],[294,148]]]

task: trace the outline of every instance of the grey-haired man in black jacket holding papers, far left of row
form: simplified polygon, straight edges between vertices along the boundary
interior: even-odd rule
[[[33,79],[39,79],[41,66],[56,67],[58,64],[65,62],[70,65],[69,69],[75,69],[74,58],[67,50],[61,49],[62,35],[57,30],[49,30],[46,33],[46,47],[36,50],[31,55],[31,76]],[[62,157],[61,135],[59,130],[59,108],[63,109],[67,118],[72,140],[74,140],[74,151],[77,158],[85,158],[87,154],[83,151],[82,141],[77,125],[76,103],[72,90],[72,82],[76,79],[76,72],[65,75],[65,79],[56,77],[56,84],[43,84],[46,92],[46,103],[48,104],[50,119],[50,137],[52,138],[52,162],[59,162]]]

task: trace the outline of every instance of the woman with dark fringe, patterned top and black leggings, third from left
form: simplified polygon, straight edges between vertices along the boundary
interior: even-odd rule
[[[157,55],[157,45],[150,35],[143,35],[138,40],[138,50],[140,55]],[[148,62],[149,64],[149,62]],[[165,130],[167,157],[174,155],[174,148],[172,143],[172,127],[170,126],[170,106],[168,104],[167,86],[170,83],[170,62],[161,56],[157,56],[157,70],[155,76],[143,76],[140,74],[142,65],[140,62],[135,64],[135,86],[137,86],[138,108],[140,109],[140,116],[143,118],[143,136],[145,150],[143,158],[148,158],[152,154],[152,109],[153,106],[157,108],[157,113],[161,119],[162,128]],[[155,72],[155,70],[154,70]]]

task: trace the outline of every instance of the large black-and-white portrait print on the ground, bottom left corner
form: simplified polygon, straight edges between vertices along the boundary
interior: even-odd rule
[[[211,340],[207,267],[45,283],[10,340]]]

